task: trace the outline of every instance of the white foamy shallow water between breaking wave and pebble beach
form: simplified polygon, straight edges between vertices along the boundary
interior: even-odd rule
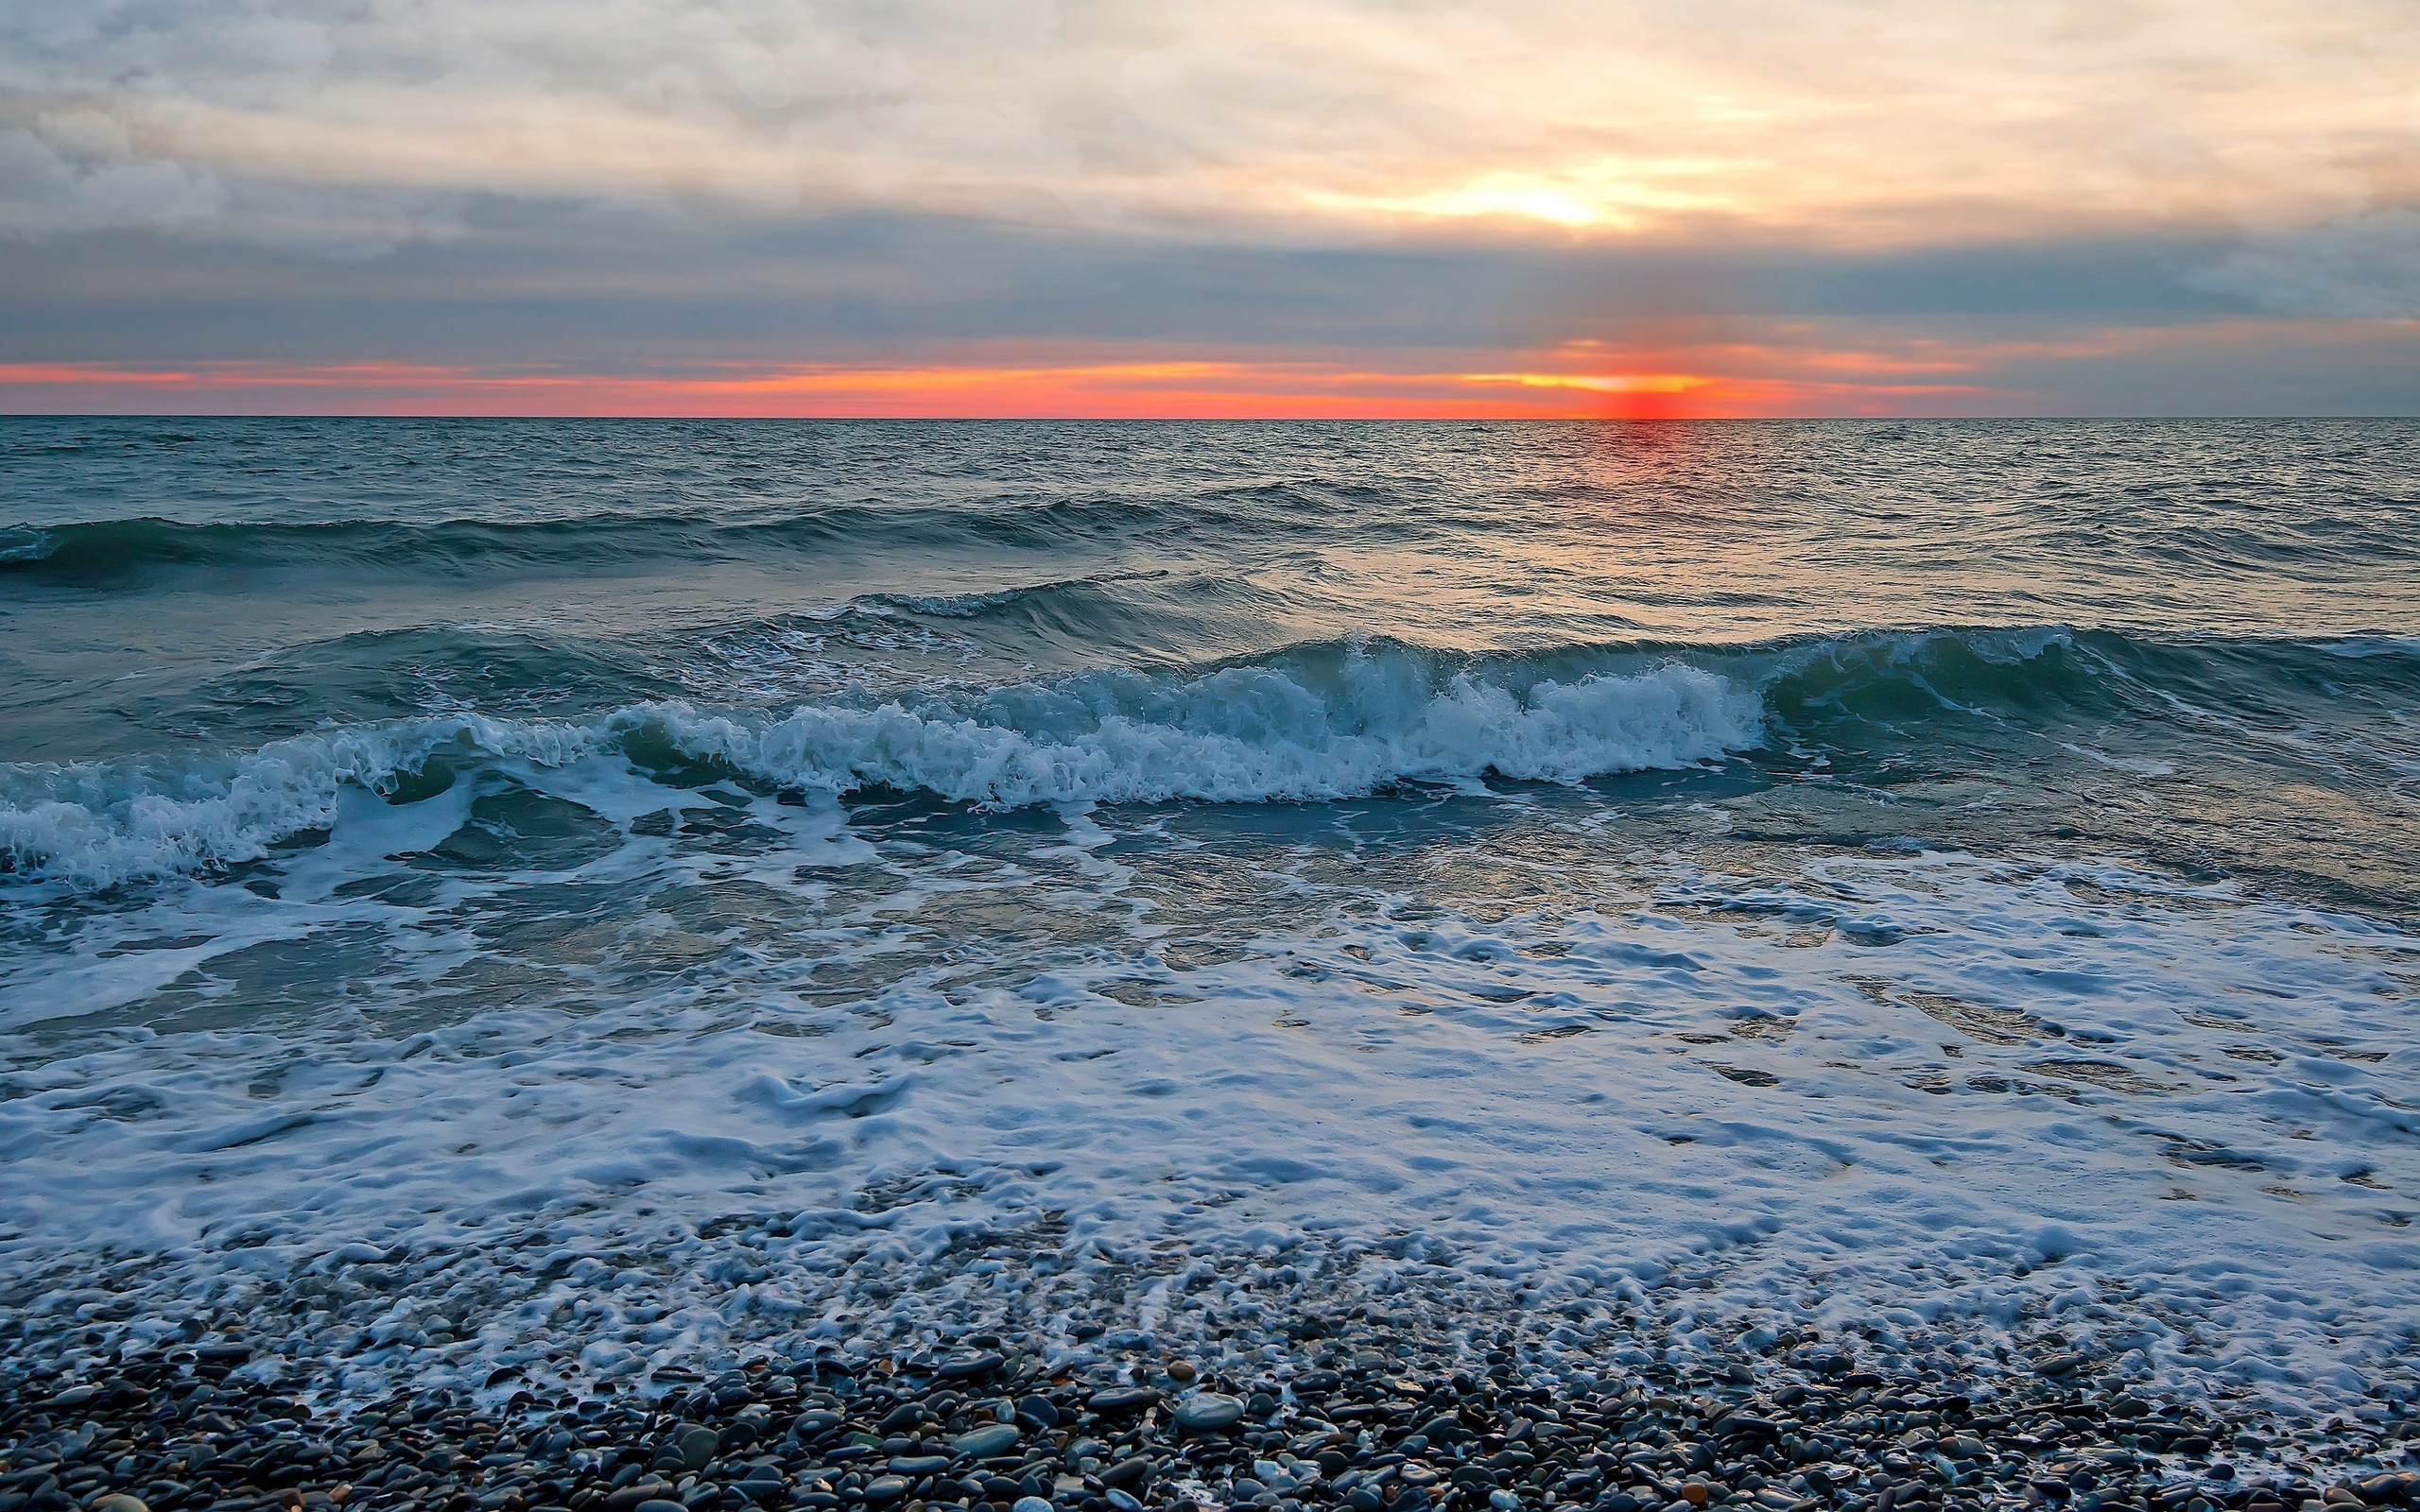
[[[1634,1294],[1679,1268],[1716,1282],[1706,1350],[2057,1328],[2328,1401],[2413,1347],[2420,941],[2357,917],[2118,864],[1607,856],[1609,810],[1551,793],[1440,796],[1411,839],[1062,808],[951,849],[733,786],[666,808],[603,760],[525,777],[624,839],[380,883],[365,856],[467,803],[358,798],[278,898],[169,890],[19,958],[19,1299],[94,1256],[165,1256],[167,1302],[532,1241],[607,1280],[636,1246],[622,1311],[557,1347],[615,1377],[711,1352],[736,1294],[871,1350],[920,1265],[1174,1241]],[[341,970],[298,951],[351,963],[334,1002],[276,1002]],[[786,1219],[789,1263],[719,1253],[733,1214]],[[484,1379],[515,1343],[392,1367]]]

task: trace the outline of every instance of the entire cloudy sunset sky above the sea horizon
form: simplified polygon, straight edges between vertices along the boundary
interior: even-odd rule
[[[2420,414],[2420,5],[0,0],[0,409]]]

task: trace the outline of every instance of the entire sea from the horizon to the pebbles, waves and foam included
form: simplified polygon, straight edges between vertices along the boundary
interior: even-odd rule
[[[2340,1401],[2415,542],[2413,421],[0,421],[0,1323]]]

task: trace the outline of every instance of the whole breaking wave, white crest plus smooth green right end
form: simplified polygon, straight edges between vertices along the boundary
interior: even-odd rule
[[[1055,593],[1070,585],[1043,585]],[[995,612],[1002,598],[895,610]],[[2067,752],[2163,772],[2190,740],[2248,755],[2413,764],[2420,641],[2151,641],[1936,629],[1767,644],[1454,653],[1329,641],[1176,673],[1091,670],[980,689],[777,709],[651,699],[588,719],[448,714],[295,735],[215,762],[0,767],[0,871],[75,888],[235,866],[334,823],[346,789],[421,791],[424,767],[724,769],[760,784],[951,803],[1283,803],[1404,784],[1580,784],[1759,748],[1834,772],[1955,769]],[[2209,711],[2226,711],[2224,719]],[[2115,748],[2113,740],[2125,748]],[[2330,735],[2333,740],[2333,735]],[[2188,743],[2188,745],[2180,745]],[[2415,767],[2420,769],[2420,767]]]

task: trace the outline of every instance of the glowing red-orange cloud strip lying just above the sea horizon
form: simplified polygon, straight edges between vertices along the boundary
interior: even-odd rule
[[[1907,416],[2376,414],[2420,404],[2379,322],[2067,327],[1793,322],[1747,339],[1670,322],[1534,351],[1232,346],[1150,360],[1106,344],[929,348],[917,363],[0,363],[0,411],[632,416]],[[1646,339],[1653,336],[1653,339]],[[1500,368],[1462,368],[1486,356]]]

